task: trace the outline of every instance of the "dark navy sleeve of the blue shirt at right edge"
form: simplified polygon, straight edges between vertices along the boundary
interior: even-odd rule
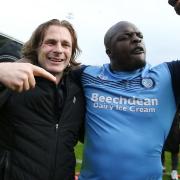
[[[167,62],[172,78],[173,92],[177,105],[180,103],[180,61]]]

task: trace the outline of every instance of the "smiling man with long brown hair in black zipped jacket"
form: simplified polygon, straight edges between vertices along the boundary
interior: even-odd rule
[[[23,46],[22,56],[31,64],[0,64],[20,72],[16,78],[25,68],[25,80],[15,88],[0,77],[0,179],[74,179],[74,147],[85,107],[78,69],[73,70],[79,52],[73,26],[52,19],[38,26]]]

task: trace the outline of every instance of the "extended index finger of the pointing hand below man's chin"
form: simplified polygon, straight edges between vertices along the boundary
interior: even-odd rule
[[[47,72],[45,69],[32,65],[33,66],[33,74],[34,76],[40,76],[43,78],[46,78],[50,81],[53,81],[54,83],[56,83],[56,77],[53,76],[51,73]]]

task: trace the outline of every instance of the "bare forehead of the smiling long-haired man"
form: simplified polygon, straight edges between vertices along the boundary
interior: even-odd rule
[[[55,40],[65,40],[68,42],[72,42],[71,33],[66,27],[52,25],[49,26],[47,31],[45,32],[44,40],[55,39]]]

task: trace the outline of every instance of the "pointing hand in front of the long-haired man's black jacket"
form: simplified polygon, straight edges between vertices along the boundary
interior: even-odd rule
[[[0,83],[14,91],[22,92],[34,88],[34,76],[56,83],[52,74],[30,63],[0,63]]]

